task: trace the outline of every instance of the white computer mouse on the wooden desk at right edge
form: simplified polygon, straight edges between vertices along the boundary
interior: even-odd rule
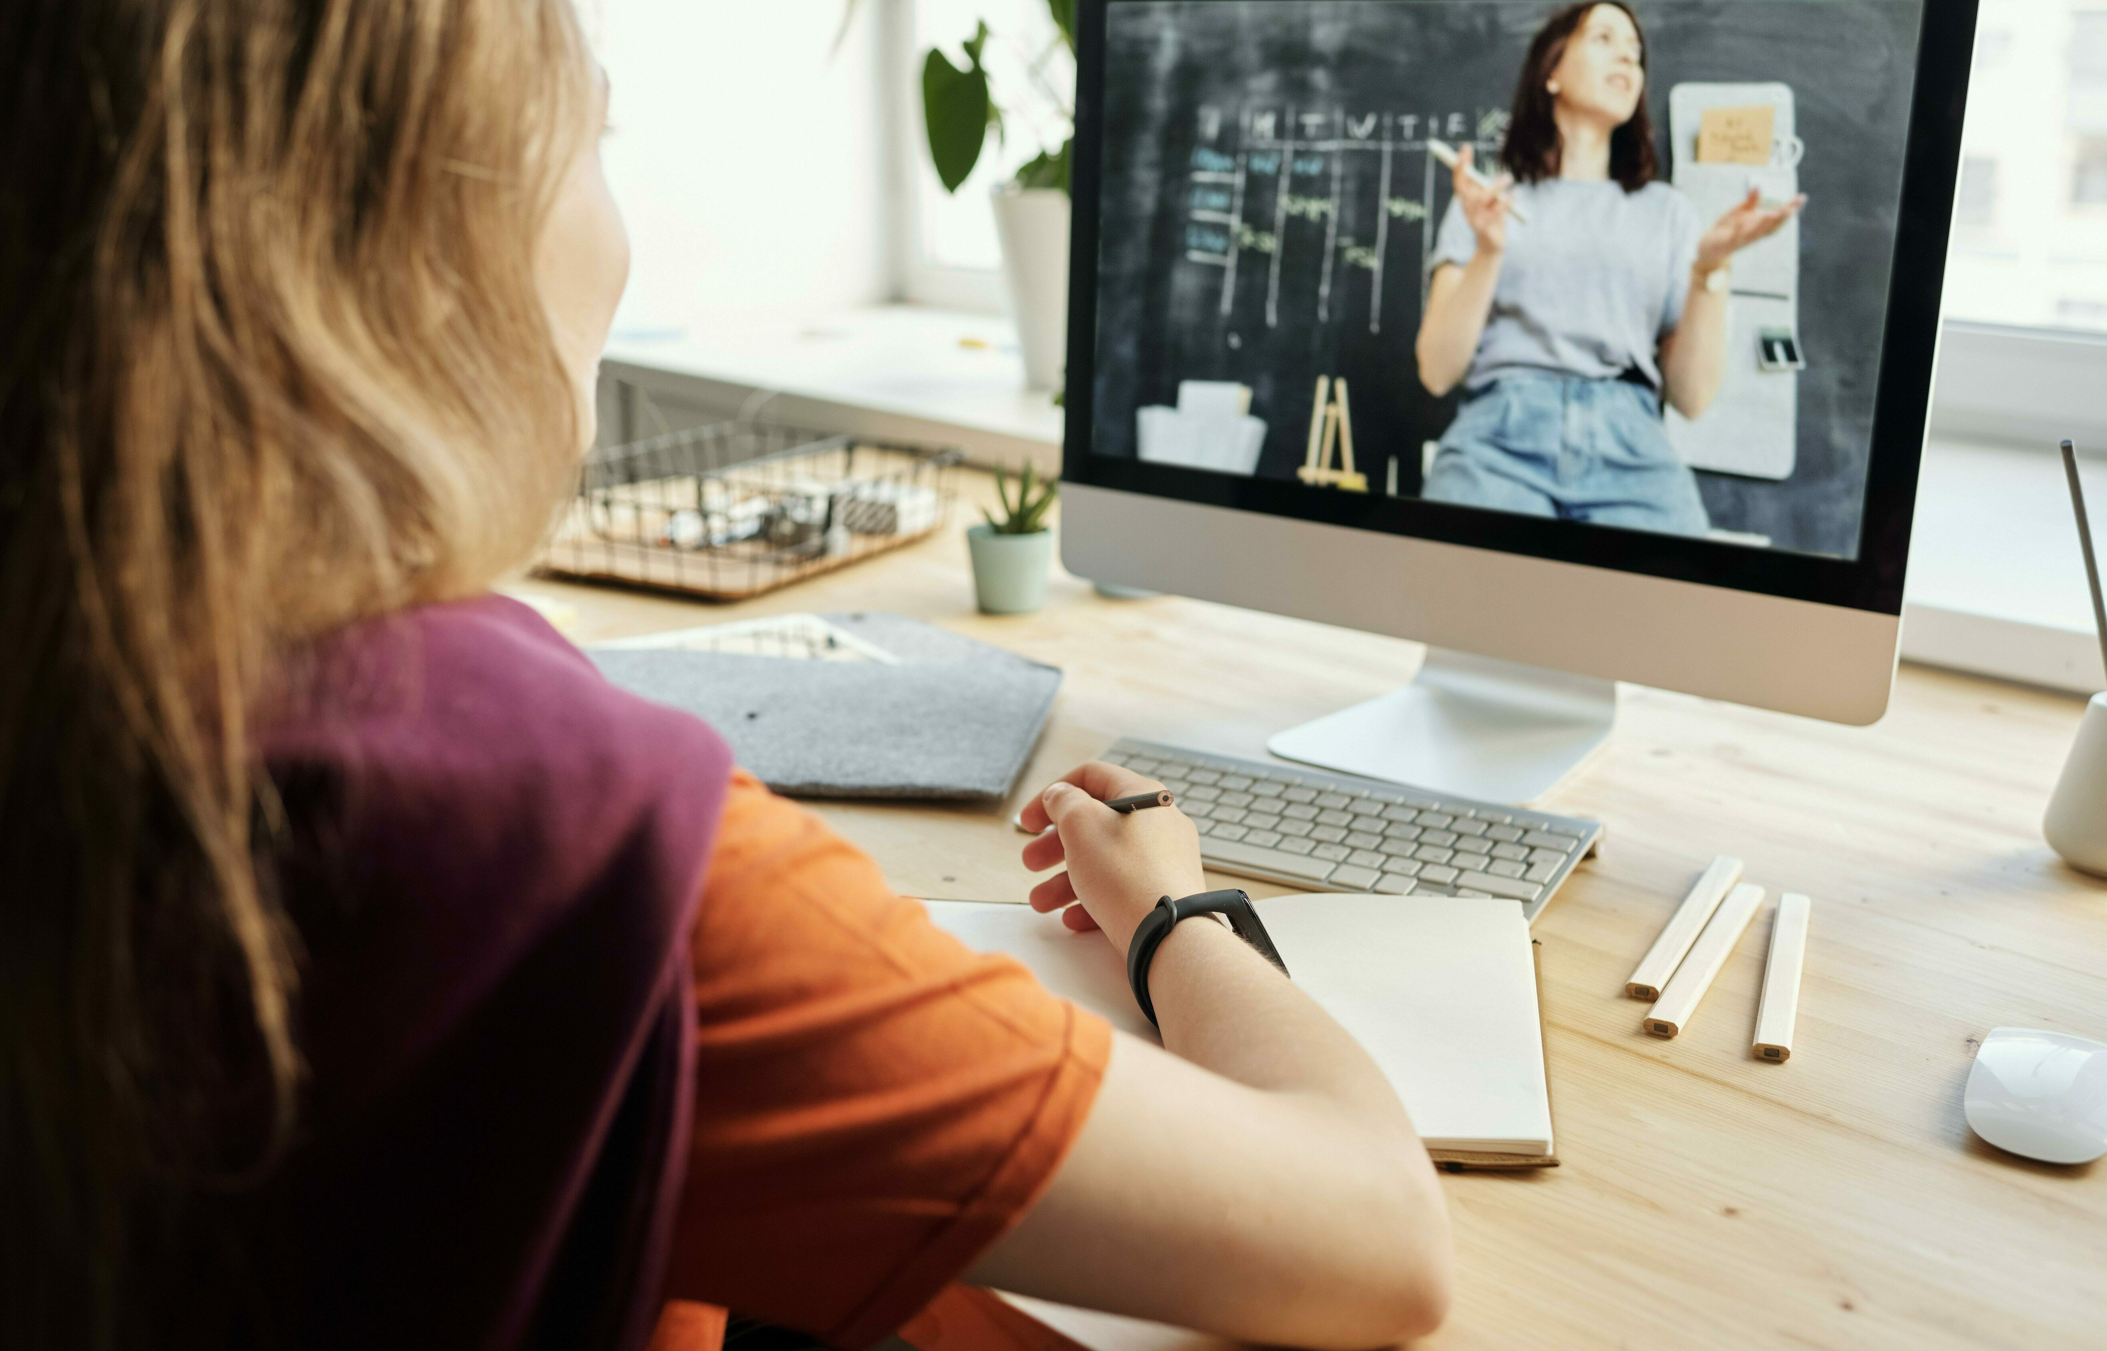
[[[1997,1026],[1968,1071],[1968,1125],[2044,1163],[2107,1155],[2107,1041]]]

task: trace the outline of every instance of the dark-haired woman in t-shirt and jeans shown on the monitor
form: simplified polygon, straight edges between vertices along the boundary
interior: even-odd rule
[[[1462,381],[1464,405],[1422,495],[1702,535],[1660,405],[1711,405],[1734,253],[1806,198],[1764,207],[1749,192],[1707,230],[1654,179],[1646,34],[1620,0],[1570,4],[1538,30],[1502,158],[1507,173],[1481,181],[1462,150],[1429,259],[1420,381]]]

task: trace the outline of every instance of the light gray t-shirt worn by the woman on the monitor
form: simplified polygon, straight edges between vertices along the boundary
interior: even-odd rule
[[[1517,369],[1587,379],[1637,369],[1658,390],[1660,339],[1683,318],[1705,234],[1690,200],[1667,183],[1624,192],[1544,179],[1519,183],[1515,202],[1530,221],[1507,221],[1500,285],[1464,384],[1475,390]],[[1475,253],[1477,234],[1452,200],[1426,274]]]

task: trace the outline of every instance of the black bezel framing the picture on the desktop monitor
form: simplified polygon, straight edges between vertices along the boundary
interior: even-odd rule
[[[1112,4],[1150,2],[1159,0],[1079,0],[1077,4],[1064,481],[1793,601],[1888,615],[1903,611],[1917,470],[1924,455],[1938,352],[1938,306],[1974,51],[1976,0],[1924,0],[1856,559],[1544,521],[1416,497],[1338,493],[1300,483],[1091,453],[1106,15]],[[1239,4],[1252,0],[1184,2]],[[1919,276],[1930,280],[1901,282],[1901,278]]]

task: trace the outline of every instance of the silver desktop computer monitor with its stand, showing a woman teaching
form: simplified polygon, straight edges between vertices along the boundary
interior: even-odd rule
[[[1528,801],[1614,681],[1879,719],[1972,36],[1083,0],[1064,563],[1424,641],[1271,742],[1372,778]]]

